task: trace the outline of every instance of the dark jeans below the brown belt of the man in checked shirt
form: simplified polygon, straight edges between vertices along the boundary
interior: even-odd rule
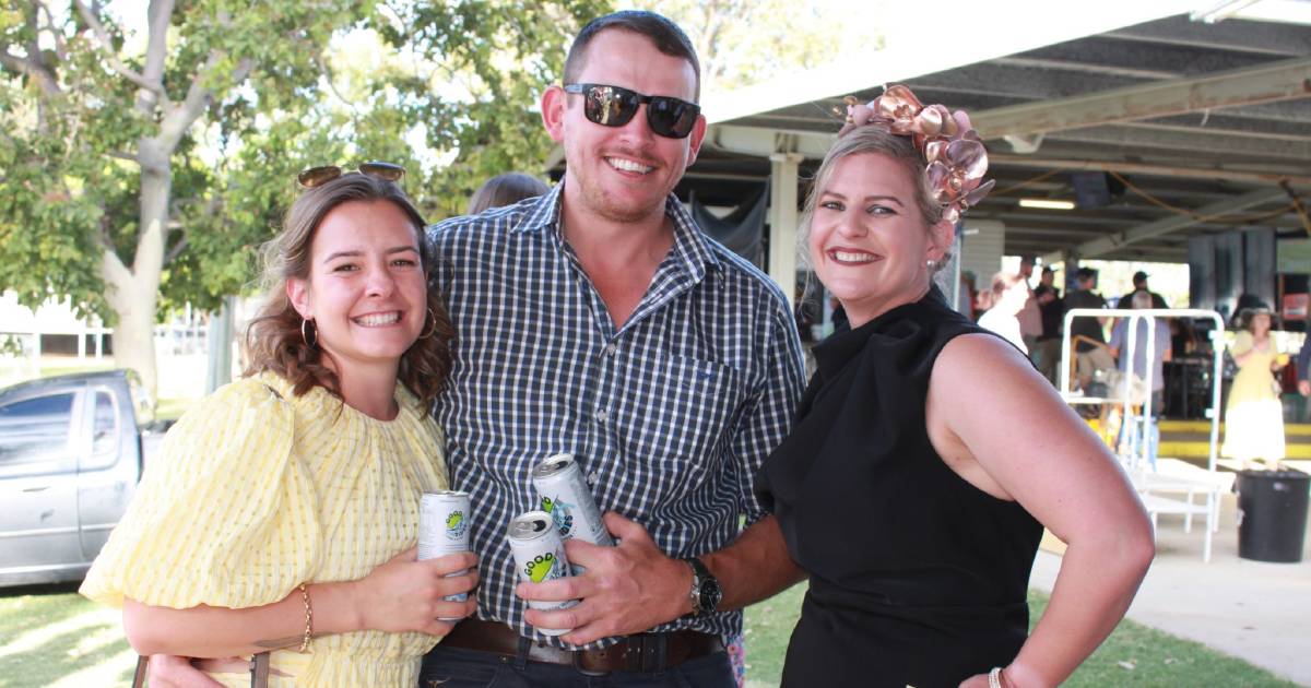
[[[420,688],[735,688],[728,653],[690,659],[661,674],[587,676],[573,667],[442,647],[423,658]]]

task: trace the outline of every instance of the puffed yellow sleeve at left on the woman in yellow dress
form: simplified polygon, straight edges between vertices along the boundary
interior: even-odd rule
[[[160,453],[146,457],[83,595],[115,607],[125,596],[172,608],[257,607],[311,578],[317,502],[292,455],[295,411],[279,381],[225,385],[169,430]]]

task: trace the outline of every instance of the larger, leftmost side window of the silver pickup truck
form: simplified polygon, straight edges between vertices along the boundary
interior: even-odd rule
[[[46,394],[0,406],[0,477],[76,468],[68,451],[75,396]]]

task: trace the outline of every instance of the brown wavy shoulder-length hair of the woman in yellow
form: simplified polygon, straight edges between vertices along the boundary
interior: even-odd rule
[[[430,283],[437,254],[423,233],[423,218],[395,182],[361,173],[347,173],[321,186],[307,189],[292,203],[283,231],[264,245],[265,299],[245,333],[245,375],[270,371],[292,384],[302,396],[323,387],[341,398],[341,381],[324,364],[324,353],[307,346],[302,335],[303,318],[287,297],[287,280],[309,279],[309,248],[323,219],[337,206],[353,201],[385,201],[399,207],[414,225],[425,282]],[[397,379],[430,405],[451,372],[451,342],[455,329],[437,290],[427,291],[431,315],[418,339],[401,354]]]

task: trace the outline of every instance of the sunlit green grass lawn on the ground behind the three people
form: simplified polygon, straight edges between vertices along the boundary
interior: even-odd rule
[[[805,586],[747,609],[747,683],[777,685]],[[1033,616],[1047,598],[1030,592]],[[135,664],[118,612],[76,595],[76,586],[0,590],[0,688],[127,685]],[[1065,684],[1290,687],[1268,671],[1200,643],[1125,621]]]

